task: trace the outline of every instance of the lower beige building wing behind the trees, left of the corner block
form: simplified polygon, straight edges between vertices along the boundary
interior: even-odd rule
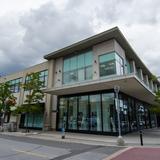
[[[27,95],[27,91],[25,91],[23,88],[20,87],[21,83],[26,83],[28,81],[28,76],[27,74],[33,73],[33,72],[40,72],[40,80],[44,82],[44,88],[47,87],[47,82],[48,82],[48,62],[44,62],[38,65],[35,65],[33,67],[27,68],[23,71],[13,73],[7,76],[0,77],[0,83],[3,82],[9,82],[11,85],[11,91],[13,95],[17,98],[16,99],[16,105],[20,106],[24,104],[25,97]],[[43,89],[43,88],[42,88]],[[45,126],[45,122],[47,122],[47,115],[48,112],[48,97],[49,95],[45,95],[43,101],[41,101],[41,105],[43,107],[42,113],[34,113],[30,114],[28,117],[29,123],[28,126],[30,128],[36,128],[36,129],[42,129],[43,126]],[[45,119],[46,118],[46,119]],[[20,117],[15,117],[15,116],[6,116],[5,122],[10,121],[17,121],[19,124],[20,128],[25,128],[26,127],[26,117],[25,114],[22,114]]]

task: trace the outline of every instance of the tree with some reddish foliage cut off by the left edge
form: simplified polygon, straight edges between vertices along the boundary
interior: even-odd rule
[[[10,90],[10,84],[9,82],[4,82],[0,84],[0,117],[1,117],[1,123],[3,125],[4,118],[6,116],[6,113],[10,115],[11,106],[16,105],[16,97],[12,94]]]

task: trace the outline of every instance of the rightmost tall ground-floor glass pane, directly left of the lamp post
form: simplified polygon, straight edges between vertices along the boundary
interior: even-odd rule
[[[116,132],[116,111],[114,107],[114,94],[102,94],[103,131]]]

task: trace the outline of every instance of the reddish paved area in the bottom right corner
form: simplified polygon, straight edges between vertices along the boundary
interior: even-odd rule
[[[135,147],[117,152],[104,160],[160,160],[160,148]]]

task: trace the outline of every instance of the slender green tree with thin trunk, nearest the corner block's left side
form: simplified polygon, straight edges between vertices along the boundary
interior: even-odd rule
[[[30,113],[42,112],[40,102],[43,100],[44,93],[41,88],[44,85],[39,79],[39,73],[27,74],[27,81],[22,84],[22,88],[27,92],[24,104],[17,107],[14,113],[25,113],[26,116],[26,132],[28,130],[28,116]]]

